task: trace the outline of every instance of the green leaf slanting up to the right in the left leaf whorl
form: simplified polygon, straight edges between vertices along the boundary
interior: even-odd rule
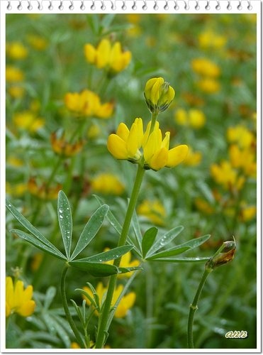
[[[103,204],[99,207],[94,214],[89,219],[89,222],[84,226],[82,234],[79,236],[79,240],[77,242],[77,246],[75,247],[71,260],[76,258],[79,253],[86,248],[86,246],[94,239],[94,236],[98,233],[101,228],[101,224],[103,224],[103,220],[108,212],[108,205]]]

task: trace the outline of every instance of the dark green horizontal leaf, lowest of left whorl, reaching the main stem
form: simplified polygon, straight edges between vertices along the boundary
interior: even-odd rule
[[[103,264],[103,263],[91,263],[87,261],[69,261],[69,265],[74,268],[79,268],[80,270],[86,271],[93,276],[103,277],[114,275],[118,273],[118,268],[113,265]]]

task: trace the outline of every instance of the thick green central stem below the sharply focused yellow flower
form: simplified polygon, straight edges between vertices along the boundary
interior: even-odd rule
[[[138,170],[137,170],[137,175],[135,178],[135,182],[133,185],[133,192],[131,193],[130,196],[130,202],[128,204],[128,209],[125,215],[125,220],[123,223],[123,229],[121,231],[121,236],[118,241],[118,246],[124,246],[127,236],[128,236],[128,231],[130,228],[130,222],[133,217],[133,211],[135,209],[136,202],[138,200],[138,195],[140,192],[140,186],[142,185],[142,178],[145,173],[145,170],[138,165]],[[120,266],[121,263],[121,258],[117,258],[113,265],[115,266]],[[117,275],[112,275],[110,277],[110,281],[108,283],[108,291],[106,295],[106,300],[103,304],[103,311],[101,313],[101,317],[99,320],[99,329],[98,329],[98,334],[97,334],[97,339],[96,339],[96,349],[101,349],[104,345],[105,341],[105,335],[107,328],[109,327],[110,324],[108,324],[108,317],[109,313],[111,311],[111,302],[113,298],[113,293],[116,288],[116,280],[117,280]]]

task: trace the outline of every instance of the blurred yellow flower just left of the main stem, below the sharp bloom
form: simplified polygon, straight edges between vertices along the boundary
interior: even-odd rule
[[[109,195],[121,195],[125,187],[116,175],[101,173],[91,180],[91,188],[94,192]]]

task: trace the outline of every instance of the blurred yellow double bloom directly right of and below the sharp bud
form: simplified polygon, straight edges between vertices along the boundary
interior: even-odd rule
[[[194,129],[200,129],[206,124],[206,116],[203,111],[198,109],[178,109],[174,115],[177,124],[181,126],[191,126]]]

